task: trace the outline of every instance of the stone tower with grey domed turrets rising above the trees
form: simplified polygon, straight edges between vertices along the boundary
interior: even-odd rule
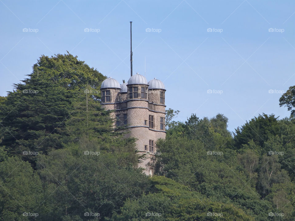
[[[133,75],[127,83],[120,85],[112,78],[101,84],[101,104],[108,110],[115,110],[114,126],[126,126],[128,137],[137,138],[136,148],[140,154],[148,154],[148,159],[139,166],[147,175],[152,168],[147,166],[150,157],[156,153],[155,142],[166,137],[165,131],[165,87],[158,79],[147,79]]]

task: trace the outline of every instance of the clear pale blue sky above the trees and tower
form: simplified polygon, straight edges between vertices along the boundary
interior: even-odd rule
[[[234,131],[261,113],[289,116],[279,98],[295,82],[295,1],[0,0],[0,19],[2,96],[42,54],[66,50],[128,80],[133,21],[133,72],[164,82],[177,120],[222,113]]]

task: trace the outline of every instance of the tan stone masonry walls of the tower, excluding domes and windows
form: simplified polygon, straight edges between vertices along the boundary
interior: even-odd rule
[[[132,85],[132,87],[138,86],[138,93],[140,94],[140,85]],[[105,89],[104,89],[105,90]],[[108,89],[111,94],[111,102],[102,103],[103,107],[107,110],[116,110],[119,107],[116,102],[127,101],[127,107],[125,109],[120,109],[111,113],[111,116],[115,118],[116,114],[127,114],[127,134],[125,137],[134,137],[136,140],[136,148],[140,151],[139,154],[149,152],[149,141],[154,141],[154,153],[149,153],[148,158],[144,160],[139,167],[146,169],[145,173],[147,175],[152,175],[152,168],[147,166],[150,161],[150,157],[153,156],[156,151],[156,141],[159,138],[165,139],[165,122],[164,130],[160,130],[160,117],[165,119],[165,105],[160,104],[160,91],[165,92],[165,90],[155,89],[148,90],[148,99],[130,99],[128,100],[128,93],[120,93],[120,89]],[[152,104],[151,104],[152,103]],[[151,106],[152,105],[152,106]],[[152,108],[149,109],[149,107]],[[149,128],[149,115],[154,116],[154,128]],[[146,125],[144,124],[146,120]],[[115,123],[114,123],[115,126]],[[145,150],[145,145],[147,149]]]

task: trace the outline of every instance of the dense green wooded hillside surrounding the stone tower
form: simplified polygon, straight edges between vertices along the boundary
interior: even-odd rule
[[[0,97],[1,220],[294,220],[295,86],[279,101],[289,118],[261,113],[233,134],[223,114],[176,122],[168,109],[148,177],[100,106],[105,78],[43,55]]]

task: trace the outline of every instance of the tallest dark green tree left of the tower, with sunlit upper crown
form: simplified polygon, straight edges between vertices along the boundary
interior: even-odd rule
[[[100,72],[71,54],[42,55],[23,83],[15,84],[0,102],[1,145],[9,154],[35,162],[35,155],[63,147],[68,136],[65,121],[74,111],[81,91],[91,88],[92,98],[100,98],[99,87],[105,79]]]

